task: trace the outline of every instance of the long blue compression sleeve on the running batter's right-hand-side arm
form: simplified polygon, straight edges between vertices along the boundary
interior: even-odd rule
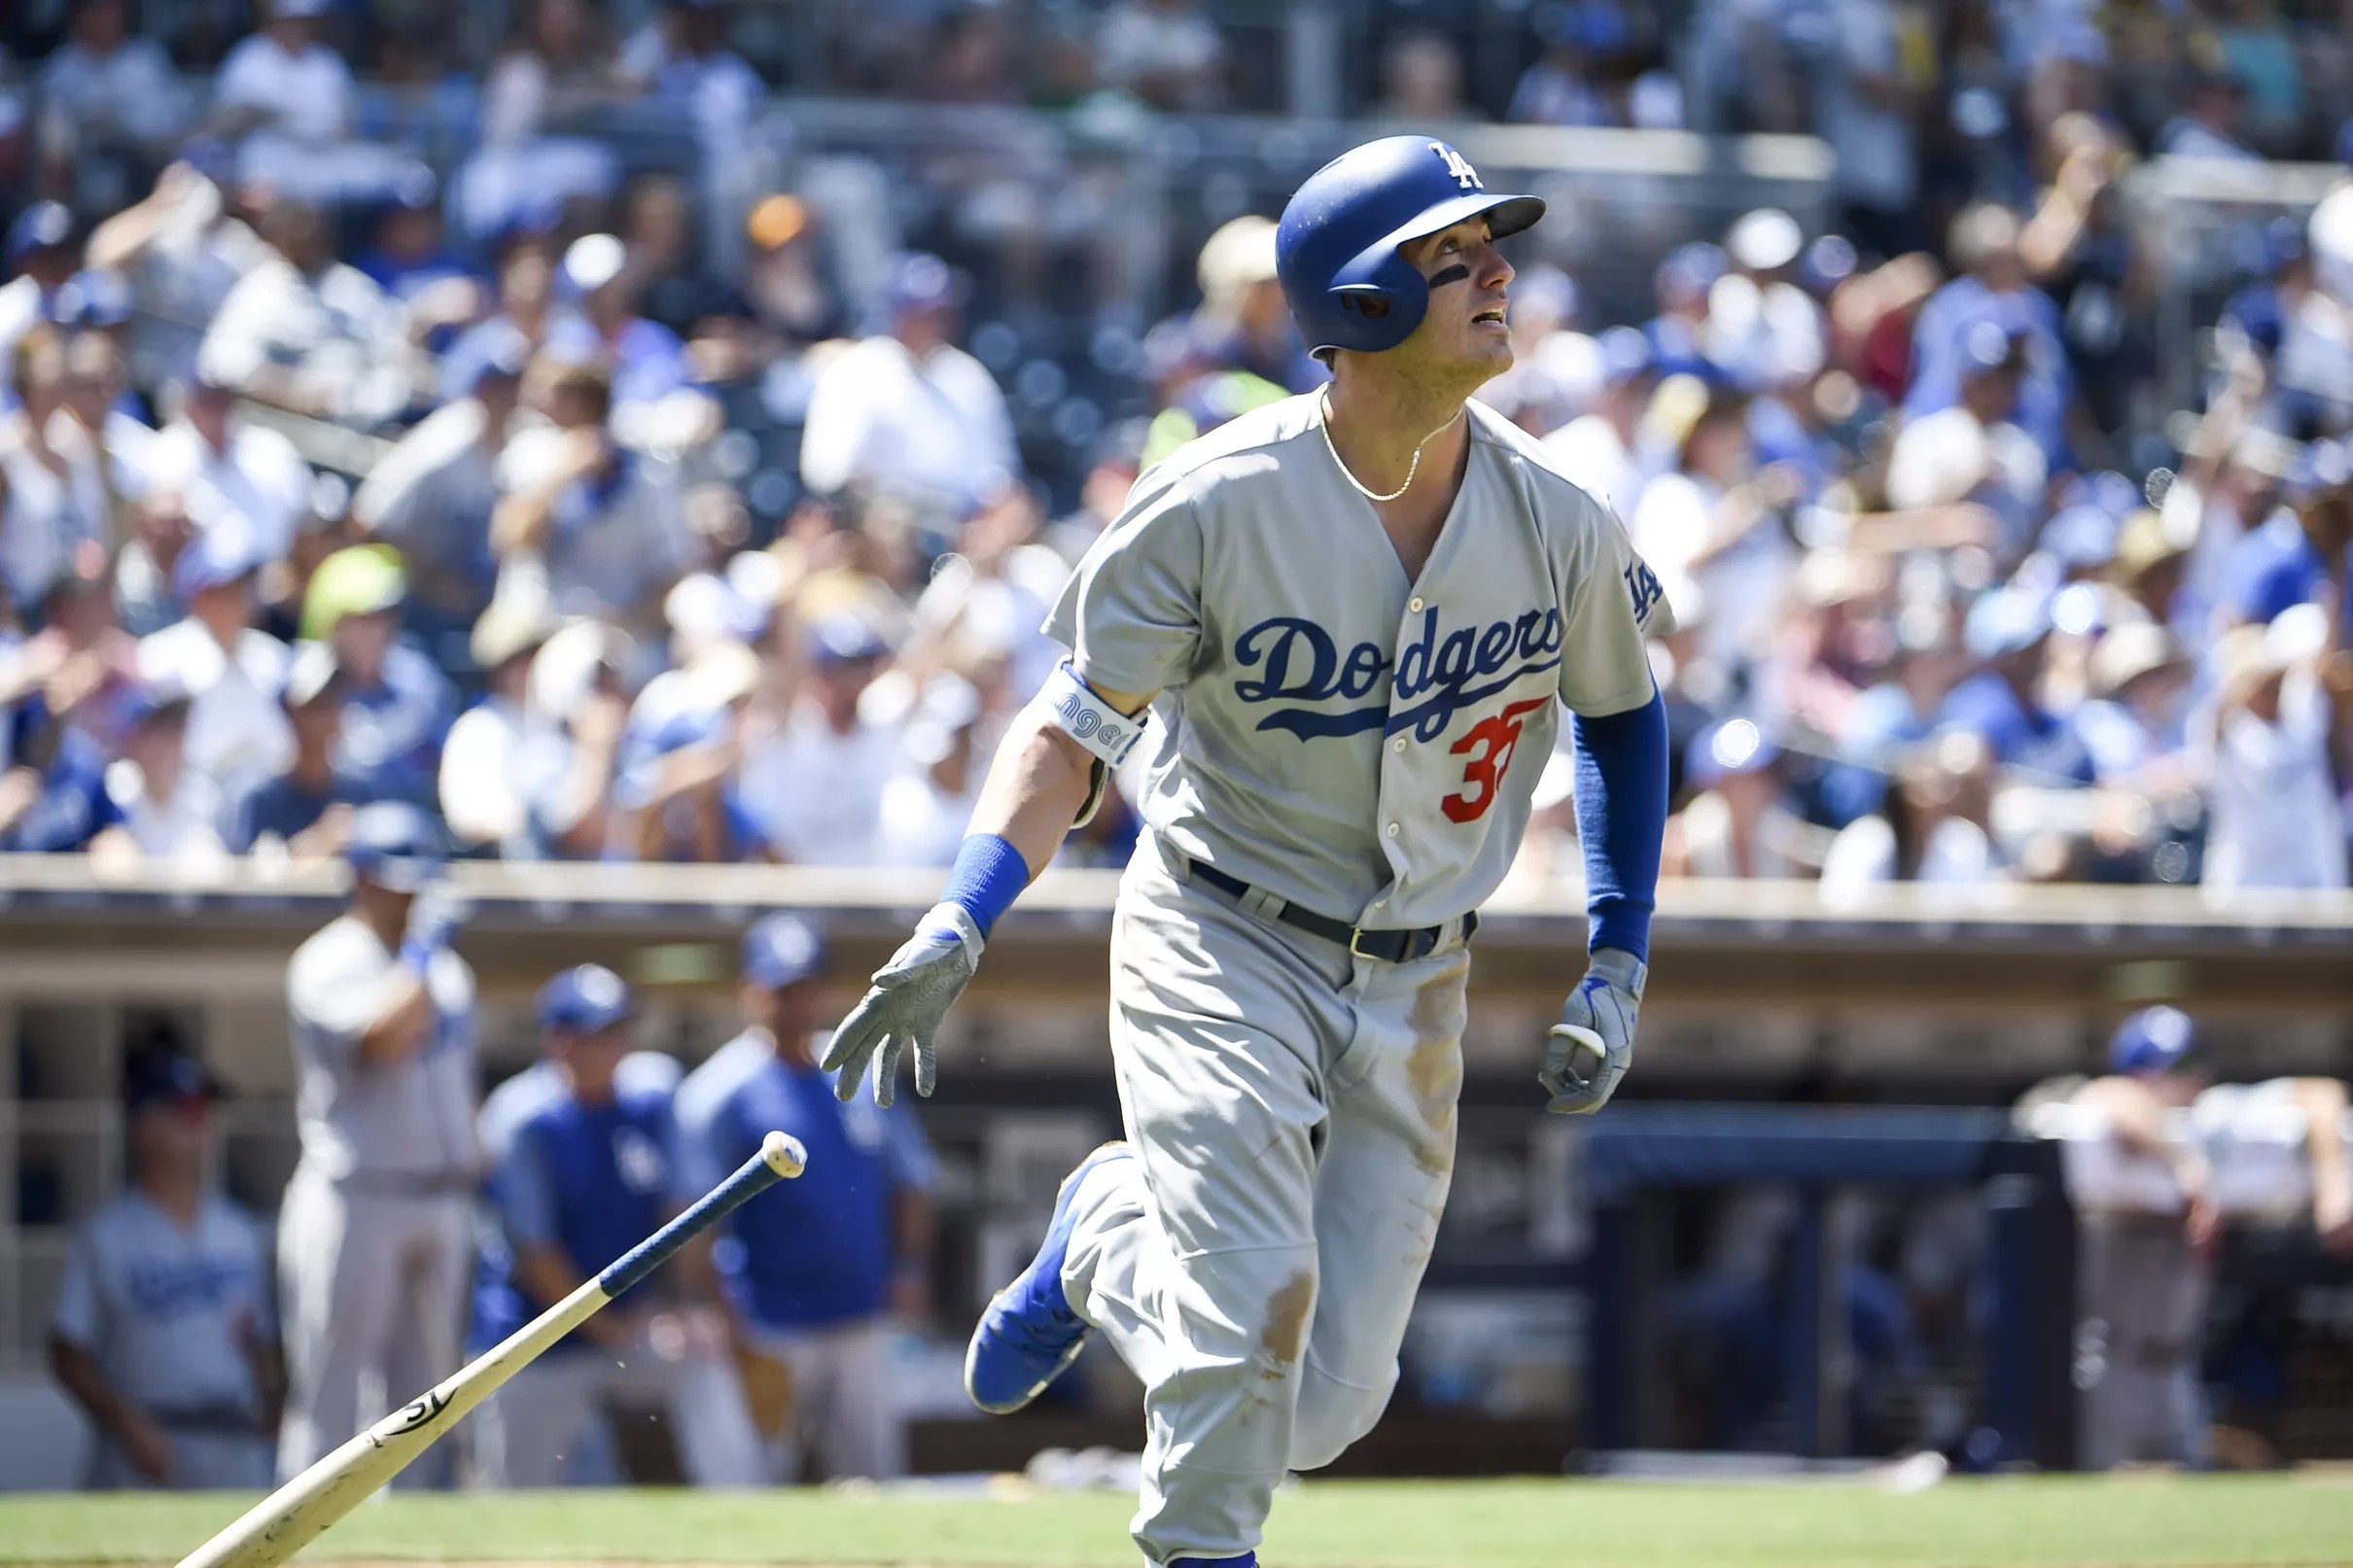
[[[1586,851],[1588,947],[1619,947],[1649,964],[1649,912],[1659,900],[1666,837],[1666,698],[1607,719],[1572,719],[1577,837]]]

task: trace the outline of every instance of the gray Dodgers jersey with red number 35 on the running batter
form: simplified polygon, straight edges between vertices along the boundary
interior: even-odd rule
[[[1468,404],[1421,576],[1348,484],[1313,395],[1153,465],[1047,618],[1080,677],[1158,691],[1141,811],[1174,849],[1362,926],[1431,926],[1504,879],[1558,705],[1652,696],[1671,609],[1626,529]]]

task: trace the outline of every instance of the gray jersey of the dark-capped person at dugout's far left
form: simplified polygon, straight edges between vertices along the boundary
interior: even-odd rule
[[[266,1258],[261,1227],[228,1199],[205,1199],[181,1229],[125,1192],[73,1239],[49,1326],[167,1427],[242,1415],[259,1432],[247,1345],[278,1338]]]

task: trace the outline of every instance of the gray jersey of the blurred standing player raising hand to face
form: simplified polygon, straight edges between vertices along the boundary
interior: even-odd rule
[[[360,1034],[384,1011],[398,957],[346,914],[294,950],[287,1009],[294,1023],[294,1114],[304,1164],[348,1175],[440,1178],[473,1171],[473,971],[440,952],[426,976],[438,1023],[395,1067],[360,1065]]]

